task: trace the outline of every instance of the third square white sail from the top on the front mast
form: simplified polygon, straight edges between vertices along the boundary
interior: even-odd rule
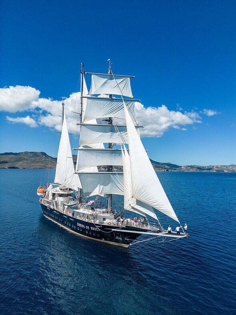
[[[119,134],[116,132],[117,129]],[[128,143],[126,126],[118,126],[117,129],[113,125],[82,124],[80,146],[92,146],[93,143],[119,143],[121,141],[120,135],[123,141]]]

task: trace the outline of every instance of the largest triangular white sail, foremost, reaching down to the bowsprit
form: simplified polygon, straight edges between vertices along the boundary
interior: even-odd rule
[[[124,109],[128,132],[132,197],[149,204],[179,222],[138,136],[125,103]]]

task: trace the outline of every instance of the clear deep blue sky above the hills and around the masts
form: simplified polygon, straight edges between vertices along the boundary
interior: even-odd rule
[[[2,0],[0,152],[55,156],[60,110],[52,100],[77,91],[81,62],[85,70],[103,69],[110,58],[114,73],[135,76],[150,158],[235,164],[235,7],[227,0]],[[15,86],[34,89],[20,88],[19,103]],[[160,125],[162,113],[168,125]],[[151,137],[158,128],[161,134]]]

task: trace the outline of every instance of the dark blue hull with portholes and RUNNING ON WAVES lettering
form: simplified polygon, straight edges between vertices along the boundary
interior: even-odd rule
[[[70,215],[61,213],[55,209],[47,207],[41,204],[42,213],[45,217],[52,220],[53,222],[59,224],[60,226],[66,228],[67,230],[74,232],[80,236],[91,238],[100,242],[110,243],[113,245],[119,245],[128,247],[138,236],[141,234],[132,234],[127,232],[113,232],[110,229],[117,229],[117,226],[107,226],[98,223],[87,222],[73,218]],[[129,229],[137,231],[145,231],[147,229],[142,229],[138,227],[124,226],[119,227],[119,229]]]

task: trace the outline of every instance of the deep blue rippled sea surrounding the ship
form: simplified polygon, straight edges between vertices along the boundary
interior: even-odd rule
[[[235,313],[236,173],[158,172],[191,236],[128,249],[43,217],[41,174],[46,184],[47,170],[0,170],[0,314]]]

